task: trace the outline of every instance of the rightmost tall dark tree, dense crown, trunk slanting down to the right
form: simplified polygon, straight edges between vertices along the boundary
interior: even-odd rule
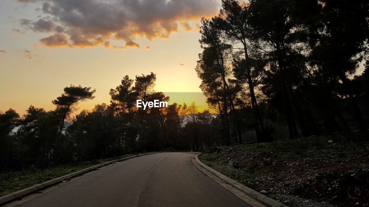
[[[345,88],[359,129],[365,121],[356,101],[349,77],[356,72],[367,50],[369,5],[365,0],[308,1],[309,10],[297,13],[306,28],[311,64],[318,66],[325,81],[338,79]],[[294,4],[302,9],[298,3]],[[306,10],[306,8],[305,8]],[[319,20],[318,23],[316,20]]]

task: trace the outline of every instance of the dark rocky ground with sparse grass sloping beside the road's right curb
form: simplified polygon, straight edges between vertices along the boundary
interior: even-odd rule
[[[369,206],[369,141],[358,132],[219,148],[201,162],[291,207]]]

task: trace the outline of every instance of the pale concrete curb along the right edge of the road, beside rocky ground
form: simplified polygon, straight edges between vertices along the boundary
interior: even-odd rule
[[[205,168],[207,171],[213,173],[218,178],[224,180],[224,182],[230,184],[231,186],[237,187],[239,190],[245,192],[248,196],[251,196],[255,200],[259,201],[260,203],[269,206],[269,207],[289,207],[284,205],[283,203],[280,203],[279,201],[276,201],[274,199],[271,199],[269,197],[266,197],[265,195],[257,192],[256,190],[252,190],[251,188],[242,185],[241,183],[237,182],[236,180],[233,180],[231,178],[228,178],[227,176],[223,175],[222,173],[215,171],[213,168],[210,168],[209,166],[205,165],[204,163],[200,162],[199,158],[197,158],[198,155],[196,155],[196,162],[201,165],[203,168]]]

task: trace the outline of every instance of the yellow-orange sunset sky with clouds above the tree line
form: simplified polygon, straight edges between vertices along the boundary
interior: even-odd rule
[[[92,109],[109,103],[125,75],[152,71],[155,91],[197,92],[186,102],[202,111],[200,19],[219,8],[219,0],[1,0],[0,110],[55,109],[70,84],[96,88],[79,105]]]

